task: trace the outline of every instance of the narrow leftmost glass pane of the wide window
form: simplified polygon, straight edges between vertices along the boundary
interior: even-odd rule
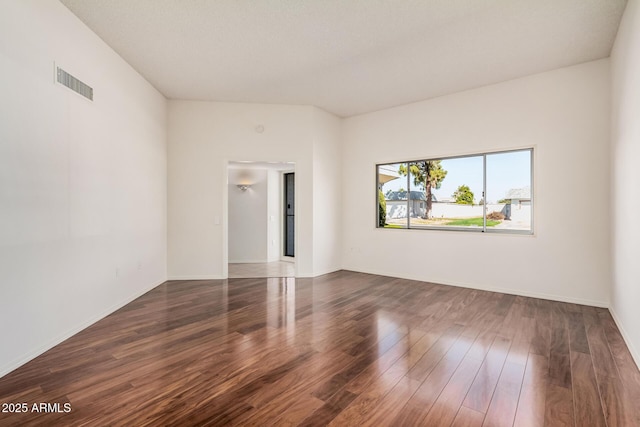
[[[407,228],[406,163],[378,166],[378,227]]]

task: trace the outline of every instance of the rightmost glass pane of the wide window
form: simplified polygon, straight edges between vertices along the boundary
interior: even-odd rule
[[[495,230],[531,231],[531,214],[531,150],[487,154],[487,221],[499,221]]]

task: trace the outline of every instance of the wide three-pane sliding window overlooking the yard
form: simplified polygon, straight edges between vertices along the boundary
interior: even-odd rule
[[[533,149],[376,166],[378,227],[533,232]]]

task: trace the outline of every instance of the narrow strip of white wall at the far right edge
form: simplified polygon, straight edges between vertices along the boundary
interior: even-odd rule
[[[611,312],[640,366],[640,2],[629,0],[611,54]]]

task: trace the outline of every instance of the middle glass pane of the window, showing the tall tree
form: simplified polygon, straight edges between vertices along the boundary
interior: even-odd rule
[[[412,228],[482,229],[482,156],[415,162],[411,172],[424,205]]]

